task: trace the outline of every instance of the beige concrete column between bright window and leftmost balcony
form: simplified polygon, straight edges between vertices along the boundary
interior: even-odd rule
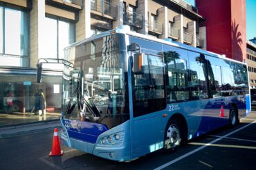
[[[76,41],[81,41],[91,36],[91,1],[84,0],[84,9],[80,10],[79,18],[75,24]]]

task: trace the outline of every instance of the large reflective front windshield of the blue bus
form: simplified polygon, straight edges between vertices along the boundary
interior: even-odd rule
[[[120,38],[118,34],[104,36],[66,50],[66,58],[77,71],[64,69],[64,118],[108,127],[129,118],[125,52]]]

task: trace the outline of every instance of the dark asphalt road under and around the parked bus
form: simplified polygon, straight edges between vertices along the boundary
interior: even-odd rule
[[[256,169],[256,111],[235,127],[196,138],[174,153],[156,151],[131,162],[113,162],[63,147],[48,157],[53,130],[0,139],[0,169]],[[255,122],[255,123],[254,123]]]

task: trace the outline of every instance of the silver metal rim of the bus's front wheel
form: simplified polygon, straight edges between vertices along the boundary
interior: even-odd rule
[[[176,125],[172,124],[166,133],[167,148],[174,148],[180,144],[180,132]]]

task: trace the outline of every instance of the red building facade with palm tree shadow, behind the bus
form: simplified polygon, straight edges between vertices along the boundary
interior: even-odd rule
[[[207,50],[230,59],[246,59],[246,0],[196,0],[205,18]]]

